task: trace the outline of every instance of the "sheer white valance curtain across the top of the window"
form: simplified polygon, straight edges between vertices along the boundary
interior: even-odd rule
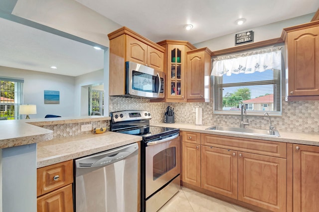
[[[281,47],[213,58],[211,76],[249,74],[269,69],[281,69]]]

